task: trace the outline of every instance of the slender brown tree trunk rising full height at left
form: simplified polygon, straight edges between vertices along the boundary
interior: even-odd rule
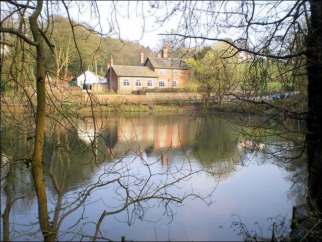
[[[44,54],[44,46],[42,37],[39,32],[39,26],[37,18],[42,10],[43,2],[37,2],[37,8],[35,12],[29,17],[30,28],[32,30],[33,38],[35,42],[38,42],[36,46],[37,50],[37,70],[36,70],[36,82],[37,82],[37,111],[36,111],[36,134],[35,134],[35,150],[32,161],[32,175],[34,179],[34,187],[38,200],[38,216],[39,224],[44,234],[45,241],[53,241],[55,239],[55,233],[51,233],[52,227],[49,223],[48,209],[47,209],[47,195],[46,186],[43,179],[43,148],[44,148],[44,127],[45,127],[45,107],[46,107],[46,89],[45,89],[45,77],[46,77],[46,60]],[[49,234],[51,233],[51,234]]]

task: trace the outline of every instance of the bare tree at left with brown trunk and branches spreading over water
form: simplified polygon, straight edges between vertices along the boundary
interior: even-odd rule
[[[14,139],[7,139],[8,146],[2,148],[6,150],[7,154],[10,154],[7,162],[2,164],[4,168],[8,167],[6,174],[8,179],[5,186],[6,190],[11,187],[11,168],[17,162],[25,164],[27,172],[31,172],[33,178],[40,226],[39,230],[30,230],[27,233],[35,237],[43,237],[45,241],[54,241],[60,234],[65,233],[86,236],[93,240],[97,238],[107,239],[100,229],[102,220],[107,215],[127,210],[129,217],[142,218],[142,215],[149,207],[145,205],[149,200],[154,199],[160,205],[165,206],[168,215],[171,217],[173,215],[170,209],[171,204],[182,203],[189,196],[200,197],[200,195],[193,192],[176,196],[169,192],[168,189],[175,186],[179,181],[189,179],[189,177],[201,172],[203,169],[195,171],[191,167],[190,169],[169,167],[163,174],[153,173],[151,170],[153,164],[148,164],[144,159],[140,158],[140,147],[129,146],[124,154],[118,156],[112,152],[112,148],[109,146],[107,148],[103,147],[104,150],[100,149],[98,139],[103,137],[107,126],[106,123],[102,122],[102,106],[97,98],[88,91],[85,94],[74,94],[69,91],[62,92],[56,87],[57,83],[53,83],[46,59],[50,64],[56,64],[56,75],[58,75],[59,69],[66,65],[68,61],[68,50],[71,44],[68,42],[68,45],[65,46],[67,53],[65,53],[63,63],[59,63],[62,59],[59,55],[63,52],[63,49],[62,47],[59,49],[59,44],[55,41],[55,34],[52,28],[54,15],[64,14],[68,16],[70,36],[74,42],[73,46],[77,50],[81,69],[83,67],[83,55],[79,49],[79,43],[82,40],[76,38],[76,28],[83,28],[88,36],[93,34],[107,36],[107,34],[101,33],[102,31],[94,31],[89,23],[77,22],[72,19],[70,9],[74,7],[78,8],[78,10],[88,7],[91,9],[93,18],[99,16],[100,11],[95,2],[86,4],[88,5],[80,2],[28,1],[26,4],[13,1],[2,2],[1,43],[5,45],[9,40],[12,42],[10,45],[16,47],[11,49],[13,58],[1,59],[2,78],[4,77],[9,83],[17,84],[20,89],[9,90],[6,95],[3,92],[1,93],[1,125],[6,130],[14,129],[15,135],[17,137],[22,135],[22,139],[29,144],[28,151],[13,149]],[[112,29],[109,31],[111,32]],[[97,46],[96,51],[98,48],[99,46]],[[47,49],[50,49],[51,53],[47,52]],[[26,55],[21,55],[21,52],[28,53],[28,59]],[[29,70],[28,75],[25,75],[24,71],[27,68],[25,62],[29,60],[33,60],[33,65],[29,66],[31,70]],[[21,68],[16,68],[17,63],[21,65]],[[83,69],[82,72],[84,72]],[[62,83],[59,84],[66,87]],[[89,99],[89,102],[84,102],[84,95]],[[78,112],[84,106],[89,110],[89,114],[85,116],[80,115]],[[93,130],[92,135],[88,134],[88,126],[91,126]],[[70,134],[77,137],[78,145],[76,147],[69,145],[73,142],[69,138]],[[81,138],[82,135],[85,135],[89,142],[84,142]],[[44,152],[45,149],[50,150],[50,156],[45,156],[45,154],[48,154]],[[106,150],[109,151],[108,155],[105,152]],[[129,151],[131,151],[131,154],[128,154]],[[78,156],[88,156],[88,163],[93,163],[102,172],[97,175],[95,181],[87,183],[86,188],[76,194],[73,199],[67,199],[65,197],[65,178],[72,172],[71,167],[73,162],[78,161]],[[115,164],[111,163],[110,166],[104,166],[104,162],[111,161],[111,157],[116,160]],[[131,160],[130,163],[134,162],[135,159],[141,159],[148,171],[148,175],[141,175],[131,169],[130,164],[124,162],[127,159]],[[29,170],[30,164],[31,169]],[[59,164],[64,167],[64,170],[57,173],[55,172],[55,167]],[[46,171],[55,189],[56,199],[54,201],[48,200],[43,175]],[[156,183],[154,178],[160,175],[165,176],[166,179]],[[76,230],[74,227],[71,227],[69,231],[62,231],[61,224],[67,216],[83,208],[89,202],[88,198],[93,192],[102,188],[107,189],[108,187],[112,187],[112,194],[119,196],[118,205],[113,209],[109,209],[109,211],[102,211],[101,217],[95,222],[96,231],[93,235],[85,234],[81,228]],[[200,198],[205,199],[204,197]],[[3,214],[4,222],[6,222],[4,240],[11,240],[22,236],[24,231],[18,231],[17,234],[14,234],[14,237],[10,236],[7,230],[10,207],[13,202],[10,196],[8,196],[7,202],[8,209]],[[80,218],[76,219],[75,224],[78,224],[82,219],[81,214]],[[129,223],[131,220],[129,219]],[[37,235],[39,232],[41,235]]]

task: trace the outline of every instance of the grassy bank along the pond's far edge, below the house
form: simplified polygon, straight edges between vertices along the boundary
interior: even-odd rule
[[[2,98],[2,112],[26,112],[30,109],[30,101],[35,107],[36,99],[35,95],[31,99],[21,100],[15,98],[15,96],[5,96],[5,100]],[[215,103],[214,105],[205,106],[199,99],[192,98],[155,98],[155,99],[140,99],[136,98],[137,95],[129,95],[127,98],[120,96],[113,100],[107,98],[98,99],[96,96],[88,95],[84,98],[83,92],[71,92],[71,93],[56,93],[56,96],[49,95],[47,105],[48,113],[64,112],[89,112],[94,110],[95,112],[173,112],[173,113],[185,113],[185,112],[207,112],[207,113],[245,113],[245,114],[258,114],[266,112],[266,114],[274,114],[276,109],[270,105],[258,105],[258,103],[241,102],[238,100],[230,100],[229,103],[221,104]],[[55,98],[56,97],[56,98]],[[24,99],[24,98],[23,98]],[[307,109],[307,102],[305,96],[294,95],[291,98],[285,100],[267,100],[272,106],[280,107],[281,109],[294,109],[294,111],[301,112]],[[301,106],[300,106],[301,105]],[[28,111],[27,111],[28,112]]]

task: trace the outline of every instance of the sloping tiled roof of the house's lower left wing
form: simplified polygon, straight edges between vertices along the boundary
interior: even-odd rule
[[[113,65],[117,76],[158,77],[158,74],[147,66],[121,66]]]

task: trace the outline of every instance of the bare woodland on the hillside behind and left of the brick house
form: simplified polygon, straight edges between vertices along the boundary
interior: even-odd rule
[[[51,18],[51,26],[48,26],[48,28],[52,29],[49,41],[54,45],[54,52],[50,53],[50,48],[48,46],[45,47],[45,52],[47,52],[46,61],[49,75],[52,77],[57,76],[69,80],[73,76],[79,75],[82,72],[82,69],[95,73],[95,61],[97,63],[97,74],[104,76],[110,55],[113,55],[114,64],[116,65],[138,65],[140,50],[143,51],[145,57],[156,55],[149,47],[145,48],[139,43],[99,36],[83,26],[77,26],[74,28],[74,34],[75,38],[78,40],[77,45],[81,53],[82,61],[80,61],[73,41],[69,20],[62,16],[52,16]],[[15,26],[15,24],[13,25]],[[8,64],[2,62],[2,73],[9,72],[11,68],[10,60],[13,58],[12,55],[20,54],[29,60],[26,61],[26,64],[29,66],[28,68],[26,67],[26,71],[30,76],[33,76],[36,66],[32,59],[36,55],[36,51],[33,48],[26,46],[23,42],[20,42],[20,45],[17,46],[17,44],[14,43],[14,38],[5,33],[3,35],[4,40],[6,40],[4,43],[6,43],[7,47],[7,51],[3,57],[4,60],[8,60]],[[20,49],[21,51],[17,53],[13,51],[13,49]],[[17,65],[23,64],[17,63]],[[17,66],[17,68],[19,67]],[[8,87],[11,86],[11,83],[8,83],[5,78],[2,78],[1,81],[2,89],[6,86],[8,89]]]

